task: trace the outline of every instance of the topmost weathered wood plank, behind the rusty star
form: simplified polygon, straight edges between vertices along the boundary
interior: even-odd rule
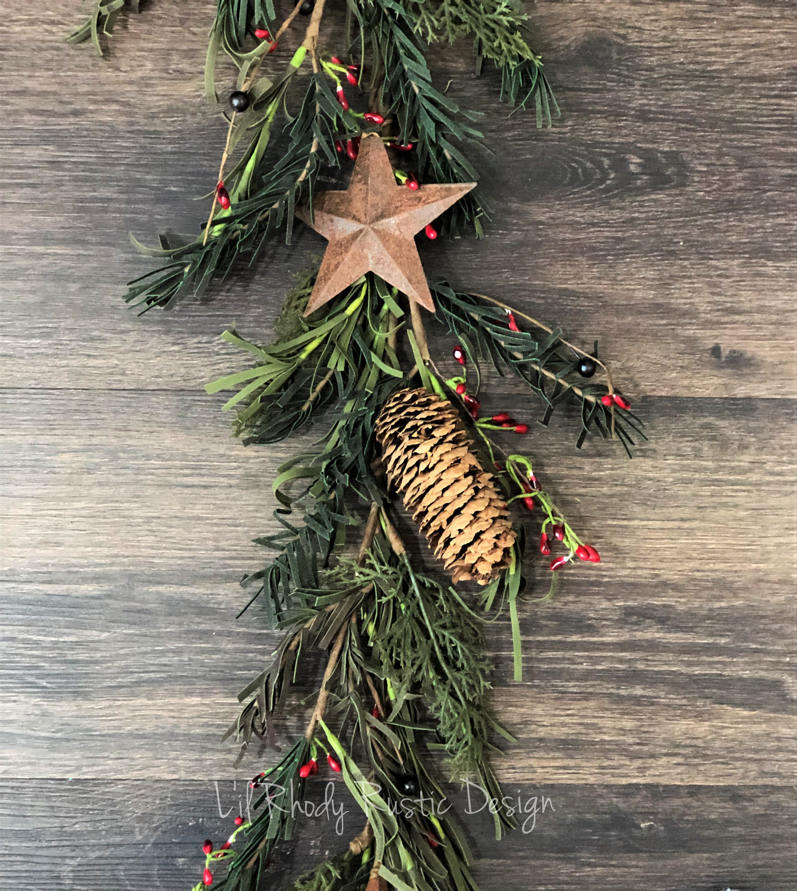
[[[507,120],[495,76],[473,80],[460,48],[434,53],[451,94],[487,112],[480,126],[500,151],[480,162],[497,208],[491,237],[426,247],[424,261],[582,343],[599,337],[631,391],[793,396],[793,16],[777,4],[641,9],[536,6],[565,109],[550,132],[522,114]],[[127,231],[153,241],[203,220],[193,197],[208,190],[224,136],[201,101],[211,15],[212,4],[177,15],[152,4],[103,61],[58,42],[61,5],[5,21],[4,92],[21,106],[2,137],[15,184],[0,221],[17,295],[9,383],[196,386],[234,362],[215,334],[234,318],[268,331],[288,270],[322,249],[311,233],[290,254],[275,246],[209,306],[177,317],[142,325],[115,302],[150,268],[126,248]],[[27,68],[29,40],[46,52],[20,94],[12,72]],[[23,329],[16,319],[31,306]]]

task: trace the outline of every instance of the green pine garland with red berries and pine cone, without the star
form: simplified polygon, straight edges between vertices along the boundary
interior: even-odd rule
[[[111,35],[127,7],[137,12],[137,2],[96,0],[70,41],[90,39],[102,54],[101,35]],[[307,208],[305,216],[314,219],[319,171],[357,159],[360,140],[373,145],[378,137],[389,147],[399,192],[423,195],[429,184],[472,184],[476,172],[464,148],[481,138],[472,127],[476,116],[435,89],[424,43],[472,37],[477,73],[486,59],[501,72],[502,101],[515,110],[533,107],[538,127],[550,126],[552,113],[558,114],[520,6],[505,0],[351,0],[345,61],[319,52],[324,13],[325,0],[300,0],[276,28],[273,0],[218,0],[205,65],[209,100],[218,102],[219,53],[238,76],[209,215],[189,244],[164,237],[160,249],[146,249],[134,240],[165,261],[130,282],[126,299],[140,312],[201,294],[239,257],[254,260],[277,230],[290,243],[294,212]],[[309,16],[301,44],[282,74],[269,76],[264,62],[300,15]],[[302,94],[308,57],[312,73]],[[357,111],[349,108],[344,83],[362,102],[366,71],[367,110]],[[289,100],[298,102],[291,117]],[[288,145],[275,157],[270,140],[280,115]],[[390,171],[387,176],[392,183]],[[481,237],[486,215],[470,189],[426,225],[429,238],[466,227]],[[251,820],[236,818],[221,845],[205,841],[204,871],[193,891],[211,884],[226,891],[268,887],[272,856],[297,830],[292,808],[272,805],[283,789],[302,797],[322,769],[340,775],[366,825],[293,888],[478,891],[472,856],[450,814],[400,807],[396,813],[390,805],[443,798],[439,768],[428,754],[436,750],[446,758],[450,780],[472,779],[502,801],[493,815],[496,837],[514,828],[490,765],[497,739],[514,740],[489,707],[491,666],[482,636],[486,615],[506,609],[514,677],[520,679],[519,601],[530,529],[512,521],[511,508],[534,511],[526,514],[532,523],[542,515],[536,549],[551,558],[551,585],[537,601],[553,595],[561,569],[575,558],[600,560],[540,485],[530,458],[497,441],[523,435],[528,424],[506,412],[481,415],[481,365],[525,381],[545,406],[544,424],[556,405],[578,405],[579,448],[596,431],[630,454],[634,437],[644,436],[596,348],[587,352],[563,339],[561,329],[502,300],[437,282],[429,286],[434,318],[452,335],[453,348],[450,358],[433,358],[418,303],[371,269],[310,315],[317,270],[301,275],[275,325],[275,342],[261,346],[226,331],[223,339],[254,364],[207,386],[209,393],[232,392],[224,409],[234,410],[234,434],[247,445],[280,441],[311,417],[325,424],[320,444],[277,470],[281,531],[256,539],[275,557],[242,582],[253,591],[244,610],[257,601],[262,619],[283,636],[239,693],[241,710],[225,736],[239,744],[236,764],[253,740],[275,747],[292,684],[316,670],[319,654],[328,655],[305,732],[252,778]],[[592,380],[597,369],[604,382]],[[481,591],[457,590],[443,565],[433,576],[415,568],[412,549],[391,519],[398,494],[453,581],[474,579]],[[363,529],[356,559],[350,556],[352,527]]]

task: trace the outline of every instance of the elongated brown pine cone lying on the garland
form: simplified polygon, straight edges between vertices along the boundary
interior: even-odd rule
[[[375,429],[390,486],[452,580],[491,582],[510,564],[515,533],[454,406],[423,388],[397,390]]]

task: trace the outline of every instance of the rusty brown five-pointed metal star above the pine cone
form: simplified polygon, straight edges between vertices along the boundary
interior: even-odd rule
[[[397,185],[382,137],[363,136],[349,188],[320,192],[296,216],[329,241],[305,315],[374,272],[432,313],[434,302],[415,247],[415,233],[470,192],[475,183]]]

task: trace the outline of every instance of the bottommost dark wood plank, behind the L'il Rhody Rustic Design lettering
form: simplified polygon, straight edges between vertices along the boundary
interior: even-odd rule
[[[349,811],[343,837],[334,821],[308,821],[301,838],[275,857],[274,887],[357,833],[356,805],[342,783],[336,786],[336,802]],[[313,781],[308,801],[321,801],[324,789],[325,778]],[[474,868],[483,887],[498,887],[499,880],[507,891],[790,891],[797,878],[788,854],[792,789],[634,784],[512,792],[520,792],[524,806],[538,797],[538,808],[545,796],[546,813],[538,813],[532,831],[500,844],[491,840],[489,818],[464,813],[467,799],[450,793],[474,854],[485,858]],[[232,783],[219,783],[224,812],[237,797]],[[201,874],[202,840],[226,838],[232,819],[219,818],[212,781],[4,781],[0,813],[7,844],[0,887],[26,891],[185,889]]]

